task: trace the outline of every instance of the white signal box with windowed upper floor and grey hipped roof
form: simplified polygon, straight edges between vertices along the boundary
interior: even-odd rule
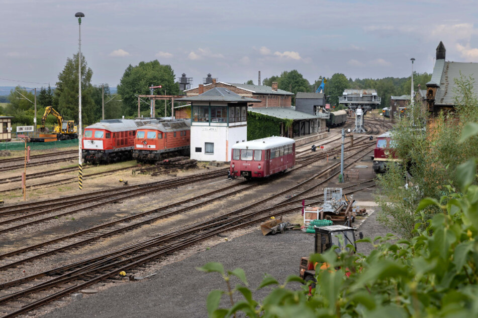
[[[230,161],[232,145],[247,140],[247,106],[261,100],[215,87],[177,101],[191,104],[191,158]]]

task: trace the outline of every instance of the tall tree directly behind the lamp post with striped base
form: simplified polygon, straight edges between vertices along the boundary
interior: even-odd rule
[[[93,71],[87,66],[86,59],[81,56],[81,114],[82,122],[92,123],[95,120],[95,107],[93,102],[94,88],[91,85]],[[58,111],[67,119],[77,121],[78,118],[78,54],[67,58],[65,67],[58,74],[56,82],[55,101]],[[100,114],[101,116],[101,114]]]

